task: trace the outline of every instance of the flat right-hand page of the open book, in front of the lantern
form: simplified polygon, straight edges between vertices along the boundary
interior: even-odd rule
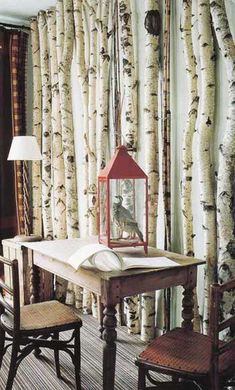
[[[123,257],[123,269],[164,268],[180,266],[168,257]]]

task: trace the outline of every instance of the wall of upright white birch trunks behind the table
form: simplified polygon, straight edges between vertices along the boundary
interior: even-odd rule
[[[45,153],[44,168],[43,169],[43,186],[44,195],[43,199],[47,199],[50,203],[50,191],[48,190],[48,183],[53,183],[52,194],[55,199],[54,202],[49,205],[48,210],[44,210],[44,220],[48,237],[51,235],[54,238],[64,237],[77,237],[78,230],[78,204],[77,204],[77,183],[76,183],[76,163],[75,157],[78,162],[78,174],[79,185],[86,177],[86,184],[83,187],[83,193],[87,195],[87,203],[79,207],[84,208],[83,220],[86,223],[82,224],[81,234],[92,235],[96,234],[96,198],[97,188],[96,180],[97,173],[106,164],[106,159],[110,155],[110,144],[113,148],[115,142],[120,144],[120,127],[122,132],[122,139],[128,145],[130,150],[136,150],[137,157],[141,163],[145,162],[146,173],[149,177],[149,243],[150,245],[156,244],[156,230],[157,230],[157,205],[158,205],[158,180],[159,180],[159,167],[158,167],[158,112],[157,106],[157,93],[158,93],[158,41],[159,35],[156,31],[158,22],[160,22],[160,16],[158,14],[158,1],[157,0],[145,0],[145,2],[135,1],[135,6],[138,8],[138,12],[141,9],[141,13],[137,14],[139,18],[137,21],[133,18],[132,0],[58,0],[56,5],[56,14],[51,9],[47,12],[47,26],[48,28],[48,42],[49,42],[49,63],[46,62],[46,56],[43,56],[43,51],[48,51],[46,48],[46,42],[44,42],[45,49],[42,51],[39,48],[39,37],[37,32],[37,22],[32,21],[32,48],[33,48],[33,74],[34,74],[34,134],[38,137],[39,143],[41,141],[41,73],[39,70],[41,65],[47,66],[46,73],[51,77],[51,129],[52,134],[50,137],[52,143],[50,146],[49,139],[46,139],[43,134],[43,151]],[[183,250],[186,254],[193,254],[193,240],[194,234],[192,230],[192,182],[195,178],[192,177],[192,137],[193,130],[195,128],[195,121],[197,116],[197,75],[196,64],[194,56],[198,56],[197,51],[192,50],[192,36],[190,26],[190,7],[199,3],[199,44],[200,44],[200,56],[197,58],[198,66],[200,70],[200,77],[202,83],[200,85],[200,99],[202,105],[200,109],[200,123],[198,132],[194,138],[195,142],[198,142],[198,133],[200,134],[200,188],[201,188],[201,202],[203,205],[204,221],[202,230],[204,232],[205,244],[204,252],[207,258],[207,273],[209,278],[206,277],[207,282],[213,279],[211,275],[215,267],[215,245],[216,240],[213,238],[216,236],[215,232],[215,209],[213,194],[215,188],[213,187],[213,170],[210,166],[212,163],[211,157],[209,157],[209,146],[212,144],[211,133],[213,128],[213,94],[214,94],[214,69],[213,69],[213,50],[212,50],[212,35],[210,31],[210,15],[209,15],[209,0],[205,1],[184,1],[183,16],[183,39],[185,47],[185,59],[186,59],[186,72],[188,77],[188,90],[189,90],[189,106],[187,108],[187,123],[184,124],[184,143],[183,143],[183,171],[184,176],[182,180],[182,214],[183,225],[182,231],[184,236]],[[228,126],[226,134],[221,142],[220,147],[220,163],[218,173],[218,228],[219,228],[219,240],[220,240],[220,255],[219,255],[219,278],[220,280],[226,280],[226,278],[234,275],[234,220],[232,210],[234,209],[234,188],[232,188],[232,181],[234,178],[234,107],[232,101],[234,100],[234,49],[225,49],[225,46],[230,45],[232,41],[231,34],[228,30],[223,28],[221,18],[224,20],[224,4],[222,0],[210,1],[211,13],[213,15],[216,35],[219,41],[221,35],[221,42],[219,43],[225,61],[230,69],[229,80],[229,105],[228,111]],[[144,4],[144,5],[143,5]],[[165,39],[164,39],[164,151],[163,151],[163,191],[165,196],[165,217],[166,217],[166,247],[170,248],[170,108],[169,108],[169,31],[170,31],[170,1],[166,0],[166,14],[165,14]],[[72,6],[74,6],[74,15],[72,15]],[[114,9],[119,12],[114,13]],[[163,7],[164,8],[164,7]],[[175,3],[173,10],[179,12],[179,5]],[[219,9],[219,11],[218,11]],[[161,7],[162,10],[162,7]],[[78,13],[80,12],[80,15]],[[217,15],[216,15],[217,12]],[[136,39],[138,48],[143,51],[145,47],[145,56],[142,53],[139,55],[139,63],[143,65],[140,69],[136,66],[135,57],[135,42],[134,30],[137,24],[143,24],[143,16],[147,16],[145,20],[145,30],[141,30],[138,27],[138,32],[145,32],[145,34],[139,34]],[[45,13],[40,16],[44,18],[41,23],[40,31],[43,30],[45,25]],[[79,19],[80,18],[80,19]],[[115,22],[116,21],[116,22]],[[114,27],[114,22],[116,27]],[[75,24],[75,36],[73,34],[73,23]],[[195,25],[195,23],[194,23]],[[179,26],[179,24],[177,25]],[[222,26],[222,30],[221,29]],[[194,27],[193,27],[194,29]],[[115,32],[114,32],[115,30]],[[223,31],[223,33],[221,33]],[[225,32],[226,31],[226,32]],[[177,33],[179,29],[177,27]],[[41,33],[40,33],[41,34]],[[47,34],[46,34],[47,35]],[[71,61],[75,51],[73,50],[74,41],[76,38],[76,60],[78,63],[77,77],[73,74],[73,83],[75,88],[82,92],[83,100],[76,100],[74,102],[75,112],[72,114],[71,104]],[[41,39],[45,39],[42,33]],[[56,39],[56,41],[55,41]],[[178,38],[176,38],[178,39]],[[145,41],[144,41],[145,40]],[[118,44],[119,42],[119,44]],[[175,38],[172,40],[173,44]],[[223,47],[224,45],[224,47]],[[41,46],[41,45],[40,45]],[[226,48],[227,48],[226,46]],[[232,46],[231,46],[232,47]],[[85,48],[85,53],[84,53]],[[226,51],[227,50],[227,51]],[[56,52],[55,52],[56,51]],[[39,58],[39,52],[41,52],[42,62]],[[227,53],[230,54],[227,54]],[[114,59],[114,53],[116,58]],[[172,52],[174,53],[174,52]],[[194,54],[194,56],[193,56]],[[182,55],[181,52],[177,52],[178,56]],[[112,58],[110,58],[110,56]],[[145,57],[142,62],[142,57]],[[233,60],[231,59],[233,58]],[[200,61],[199,61],[200,60]],[[113,63],[112,63],[113,61]],[[181,61],[181,60],[180,60]],[[110,63],[112,63],[112,82],[110,80]],[[178,63],[178,62],[177,62]],[[180,63],[180,62],[179,62]],[[58,69],[56,69],[58,68]],[[118,74],[121,73],[120,74]],[[182,69],[182,73],[183,69]],[[48,76],[48,77],[49,77]],[[45,77],[45,75],[43,76]],[[116,77],[116,79],[115,79]],[[140,79],[139,85],[137,79]],[[45,88],[49,86],[50,78],[48,80],[43,79],[44,82],[44,96],[48,93],[49,89]],[[77,83],[77,84],[76,84]],[[144,84],[144,85],[143,85]],[[114,87],[115,85],[115,87]],[[78,88],[77,88],[78,87]],[[112,111],[110,113],[109,89],[114,88],[112,91]],[[79,90],[79,92],[80,92]],[[46,92],[47,91],[47,92]],[[143,94],[141,94],[142,91]],[[120,97],[121,92],[121,97]],[[160,92],[161,93],[161,92]],[[137,107],[137,96],[140,95],[140,110]],[[115,96],[115,97],[114,97]],[[117,99],[118,97],[118,99]],[[143,98],[144,97],[144,103]],[[174,96],[172,97],[174,99]],[[180,95],[180,101],[186,102],[186,98]],[[117,107],[114,107],[115,103]],[[181,104],[177,102],[177,104]],[[45,106],[45,104],[44,104]],[[82,167],[80,164],[80,157],[75,156],[74,150],[74,130],[73,130],[73,115],[78,115],[80,118],[80,107],[83,112],[83,119],[81,118],[77,133],[83,134],[83,141],[78,145],[78,153],[84,154]],[[175,106],[173,106],[175,107]],[[77,109],[78,108],[78,109]],[[184,109],[184,108],[183,108]],[[123,111],[121,115],[121,110]],[[45,122],[44,113],[44,122]],[[82,114],[81,114],[82,115]],[[115,118],[114,118],[115,117]],[[140,121],[139,121],[140,117]],[[212,117],[212,118],[211,118]],[[120,121],[120,118],[122,119]],[[208,119],[209,118],[209,119]],[[181,118],[177,118],[181,121]],[[114,125],[115,123],[115,125]],[[120,126],[121,124],[121,126]],[[139,126],[140,125],[140,126]],[[77,123],[76,123],[77,126]],[[172,130],[177,128],[175,124],[172,126]],[[181,126],[183,127],[183,126]],[[44,129],[46,125],[44,123]],[[138,129],[138,131],[137,131]],[[180,128],[178,127],[178,130]],[[76,133],[76,137],[78,134]],[[80,137],[80,135],[79,135]],[[76,139],[76,142],[80,138]],[[178,133],[177,133],[178,137]],[[145,156],[143,157],[143,147],[139,149],[138,145],[144,139],[144,149],[146,149]],[[111,141],[111,142],[110,142]],[[114,142],[115,141],[115,142]],[[204,144],[204,149],[203,149]],[[51,167],[47,166],[47,156],[50,154],[49,148],[51,147],[52,159],[50,161]],[[180,146],[182,150],[182,145]],[[172,145],[174,148],[174,145]],[[173,149],[175,151],[175,149]],[[139,153],[139,151],[141,153]],[[62,157],[63,156],[63,157]],[[146,159],[145,159],[146,157]],[[177,157],[178,158],[178,157]],[[144,160],[145,159],[145,160]],[[144,162],[143,162],[144,161]],[[49,163],[49,160],[48,160]],[[34,198],[34,233],[41,233],[41,210],[40,210],[40,186],[41,186],[41,172],[40,165],[36,162],[33,163],[33,198]],[[84,165],[85,164],[85,165]],[[198,162],[195,161],[195,165]],[[85,169],[84,169],[85,168]],[[50,181],[50,170],[52,170],[52,181]],[[177,167],[176,167],[177,170]],[[175,172],[175,167],[174,167]],[[81,177],[80,177],[81,175]],[[80,181],[81,179],[81,181]],[[47,183],[47,184],[46,184]],[[46,184],[46,185],[45,185]],[[177,187],[176,198],[180,198],[178,193],[179,183],[175,183]],[[128,202],[128,191],[130,183],[126,183],[126,201]],[[47,192],[46,190],[47,189]],[[66,189],[66,190],[65,190]],[[79,188],[80,191],[80,188]],[[85,197],[84,197],[85,198]],[[177,198],[177,199],[178,199]],[[179,201],[178,199],[175,201]],[[226,199],[226,200],[225,200]],[[173,203],[174,203],[173,202]],[[48,203],[48,204],[49,204]],[[172,203],[175,212],[175,204]],[[51,227],[48,229],[49,220],[46,219],[47,212],[50,209],[52,216]],[[81,216],[79,216],[81,220]],[[158,227],[159,228],[159,227]],[[181,229],[181,227],[179,227]],[[48,233],[49,232],[49,233]],[[158,234],[161,231],[158,230]],[[200,238],[199,238],[200,240]],[[180,241],[180,240],[179,240]],[[196,237],[196,241],[198,238]],[[180,246],[180,244],[179,244]],[[171,248],[173,249],[173,248]],[[182,248],[180,248],[182,250]],[[197,246],[196,246],[197,250]],[[214,254],[213,254],[214,253]],[[64,286],[61,286],[61,294]],[[207,290],[206,290],[207,291]],[[81,290],[78,286],[69,286],[69,301],[74,302],[77,307],[82,306]],[[77,294],[77,295],[76,295]],[[154,334],[154,293],[146,293],[141,297],[141,305],[138,302],[139,297],[128,297],[125,299],[125,306],[127,310],[127,322],[130,332],[138,332],[140,323],[142,326],[141,337],[147,340]],[[67,294],[68,297],[68,294]],[[90,311],[90,299],[91,296],[87,291],[84,291],[83,304],[84,310]],[[96,297],[93,296],[93,307],[96,310]],[[230,299],[231,303],[232,300]],[[208,304],[208,299],[206,299]],[[141,306],[141,308],[139,307]],[[207,309],[206,309],[207,310]],[[140,318],[139,318],[140,314]],[[207,318],[205,318],[207,320]]]

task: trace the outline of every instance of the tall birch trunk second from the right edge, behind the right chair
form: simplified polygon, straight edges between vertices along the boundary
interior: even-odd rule
[[[213,171],[210,146],[214,128],[215,105],[215,56],[211,29],[209,0],[198,3],[199,53],[201,62],[201,93],[199,111],[199,181],[200,202],[203,208],[203,235],[205,268],[205,297],[203,328],[208,332],[209,286],[216,275],[216,222],[213,186]]]

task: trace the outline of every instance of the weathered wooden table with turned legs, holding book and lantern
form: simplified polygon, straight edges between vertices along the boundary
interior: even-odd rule
[[[135,269],[124,272],[101,272],[92,268],[80,268],[75,271],[70,265],[66,264],[66,260],[74,252],[74,246],[89,242],[94,242],[94,239],[51,241],[50,250],[47,249],[47,251],[43,250],[41,246],[37,246],[39,243],[32,244],[32,248],[28,250],[32,261],[32,269],[34,270],[34,272],[31,272],[31,302],[36,302],[39,297],[37,283],[35,283],[38,280],[39,268],[76,283],[101,297],[101,302],[104,305],[103,390],[114,390],[117,336],[116,304],[120,302],[121,298],[127,296],[167,287],[183,286],[182,326],[191,329],[193,289],[196,287],[197,266],[204,264],[204,261],[149,248],[148,256],[167,256],[178,262],[180,266],[151,270]],[[53,257],[55,246],[57,258]],[[68,248],[66,255],[64,253],[65,246]],[[120,249],[119,252],[123,256],[144,256],[143,249],[138,248],[128,248],[128,252],[125,252],[125,249]]]

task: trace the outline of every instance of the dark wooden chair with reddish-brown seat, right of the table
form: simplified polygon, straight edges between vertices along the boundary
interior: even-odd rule
[[[233,290],[235,279],[211,286],[209,336],[175,328],[155,339],[138,356],[135,362],[139,367],[138,390],[224,388],[235,375],[235,338],[220,341],[219,333],[226,328],[234,329],[235,313],[233,311],[229,319],[220,321],[220,303],[224,292]],[[151,371],[170,375],[172,382],[157,382]],[[146,377],[154,386],[146,387]],[[180,378],[192,380],[192,385],[179,382]]]

